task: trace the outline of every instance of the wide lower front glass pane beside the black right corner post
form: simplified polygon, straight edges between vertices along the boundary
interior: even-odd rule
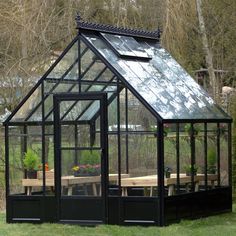
[[[128,156],[126,156],[128,138]],[[157,141],[149,135],[121,135],[123,196],[157,196]],[[137,148],[139,147],[139,148]],[[127,159],[128,158],[128,159]]]

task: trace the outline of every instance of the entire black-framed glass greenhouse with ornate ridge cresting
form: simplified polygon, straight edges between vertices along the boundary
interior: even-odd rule
[[[158,32],[77,18],[5,121],[7,222],[167,225],[232,210],[232,119]]]

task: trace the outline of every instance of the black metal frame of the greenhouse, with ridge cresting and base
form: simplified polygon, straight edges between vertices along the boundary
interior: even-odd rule
[[[178,221],[182,218],[194,218],[194,217],[202,217],[210,214],[221,213],[225,211],[232,210],[232,197],[231,197],[231,188],[232,188],[232,141],[231,141],[231,118],[225,119],[163,119],[157,112],[148,104],[143,97],[140,96],[138,91],[136,91],[127,81],[126,79],[119,73],[119,71],[115,70],[111,63],[103,57],[101,53],[86,39],[84,33],[95,33],[99,34],[99,32],[106,32],[112,34],[120,34],[120,35],[128,35],[133,36],[138,40],[151,40],[151,41],[159,41],[160,32],[146,32],[139,30],[129,30],[124,28],[116,28],[110,27],[100,24],[92,24],[89,22],[84,22],[78,16],[77,18],[79,34],[76,38],[69,44],[69,46],[65,49],[62,55],[56,60],[56,62],[52,65],[52,67],[45,73],[45,75],[39,80],[34,88],[31,89],[29,94],[23,99],[23,101],[17,106],[14,112],[8,117],[5,121],[5,155],[6,155],[6,199],[7,199],[7,221],[8,222],[73,222],[80,224],[98,224],[98,223],[108,223],[108,224],[144,224],[144,225],[159,225],[163,226],[172,221]],[[68,67],[68,69],[64,72],[60,79],[48,78],[50,72],[57,66],[57,64],[63,59],[66,53],[72,48],[73,45],[78,43],[78,55],[74,63]],[[81,43],[83,43],[86,48],[81,50]],[[104,68],[101,71],[98,71],[96,77],[91,81],[83,80],[84,75],[91,70],[93,64],[96,63],[95,58],[92,58],[92,62],[87,65],[84,72],[82,73],[81,68],[81,60],[87,51],[91,51],[94,53],[95,57],[98,58],[103,64]],[[78,78],[76,80],[63,80],[63,78],[70,72],[70,69],[73,68],[78,63]],[[99,78],[102,74],[109,70],[112,72],[113,77],[108,81],[99,81]],[[116,81],[114,81],[116,80]],[[47,82],[55,82],[53,88],[49,91],[49,93],[45,93],[45,81]],[[60,83],[68,83],[70,84],[70,88],[65,93],[54,94],[53,96],[53,106],[49,109],[49,112],[46,114],[45,111],[45,100],[54,93],[54,89]],[[82,85],[88,85],[85,91],[82,91]],[[42,101],[38,103],[35,109],[28,115],[28,117],[24,121],[11,121],[17,111],[21,108],[21,106],[27,101],[27,99],[33,94],[33,92],[39,88],[41,85],[41,97]],[[72,92],[73,88],[78,85],[78,91],[76,93]],[[94,85],[103,85],[103,89],[99,92],[89,92],[89,89]],[[110,98],[107,98],[107,93],[104,90],[108,86],[116,86],[116,91],[112,92]],[[125,91],[125,130],[121,130],[121,103],[120,103],[120,92],[124,89]],[[130,91],[139,102],[147,108],[150,114],[156,119],[157,131],[130,131],[128,128],[128,91]],[[114,99],[117,98],[116,110],[117,110],[117,130],[116,131],[108,131],[108,121],[107,116],[107,108],[109,104],[111,104]],[[73,109],[76,105],[76,101],[79,100],[99,100],[101,104],[101,108],[103,112],[99,110],[96,111],[91,118],[91,120],[79,120],[79,118],[89,109],[91,104],[89,104],[84,111],[82,111],[75,121],[60,121],[60,102],[61,101],[75,101],[75,103],[67,110],[64,117]],[[42,120],[40,121],[30,121],[30,117],[37,110],[38,107],[42,105]],[[54,121],[48,120],[47,118],[54,114]],[[61,217],[60,208],[62,205],[61,198],[61,173],[60,173],[60,125],[61,122],[63,124],[71,124],[75,128],[74,138],[75,140],[78,138],[76,136],[77,125],[79,124],[88,124],[91,128],[91,133],[94,131],[94,124],[99,115],[102,114],[101,117],[101,129],[103,132],[100,135],[102,138],[102,146],[103,148],[103,172],[102,172],[102,204],[103,204],[103,214],[101,216],[102,220],[66,220]],[[164,167],[165,167],[165,154],[164,154],[164,124],[173,124],[175,126],[175,148],[176,148],[176,170],[177,170],[177,183],[176,183],[176,195],[174,196],[166,196],[165,194],[165,178],[164,178]],[[189,123],[191,126],[191,135],[190,135],[190,150],[191,150],[191,165],[194,166],[196,162],[196,148],[195,148],[195,136],[194,136],[194,125],[200,123],[204,126],[203,130],[203,142],[204,142],[204,164],[205,164],[205,179],[204,179],[204,191],[194,192],[195,183],[194,183],[194,173],[191,173],[191,191],[189,193],[182,194],[180,188],[180,132],[181,125],[183,123]],[[217,168],[218,168],[218,186],[216,189],[208,188],[208,176],[207,176],[207,139],[208,139],[208,125],[210,123],[217,124],[217,136],[216,136],[216,149],[217,149]],[[220,185],[220,123],[225,123],[228,125],[227,128],[227,139],[228,139],[228,186],[224,187]],[[24,139],[24,147],[23,151],[27,149],[27,127],[28,126],[39,126],[41,127],[41,137],[42,137],[42,163],[43,163],[43,187],[41,195],[32,195],[26,196],[26,192],[19,195],[11,195],[9,190],[9,128],[11,126],[21,127],[24,130],[24,134],[22,137]],[[46,127],[53,126],[54,133],[46,134]],[[156,139],[156,163],[157,163],[157,178],[158,178],[158,195],[155,197],[132,197],[132,196],[122,196],[121,189],[121,135],[125,136],[125,172],[129,173],[130,163],[129,163],[129,134],[137,134],[137,135],[157,135]],[[46,136],[55,137],[55,153],[54,153],[54,161],[55,161],[55,187],[56,193],[54,196],[46,195],[46,180],[45,180],[45,140]],[[116,135],[117,136],[117,170],[118,170],[118,191],[114,196],[109,195],[109,180],[108,180],[108,172],[109,172],[109,163],[108,163],[108,136]],[[92,141],[91,141],[92,142]],[[75,147],[76,148],[76,147]],[[55,157],[59,157],[58,159]],[[88,198],[87,198],[88,199]],[[221,202],[221,207],[218,206],[218,199]],[[65,203],[65,201],[68,202]],[[86,198],[82,199],[82,205],[91,204],[91,201],[96,202],[97,199],[90,198],[89,201]],[[63,204],[78,204],[79,207],[83,208],[84,206],[80,205],[78,201],[76,201],[75,197],[70,197],[67,199],[63,199]],[[196,207],[196,202],[199,203],[199,207]],[[96,202],[97,204],[97,202]],[[26,213],[21,212],[22,206],[29,206],[29,211]],[[49,207],[50,206],[50,207]],[[184,211],[184,214],[182,212]],[[49,209],[49,210],[48,210]],[[84,209],[84,208],[83,208]],[[146,211],[143,211],[145,209]],[[69,213],[68,213],[69,214]],[[92,214],[92,213],[91,213]]]

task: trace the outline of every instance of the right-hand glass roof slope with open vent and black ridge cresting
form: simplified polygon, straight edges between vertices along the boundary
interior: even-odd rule
[[[230,119],[159,43],[159,32],[91,24],[82,36],[163,120]]]

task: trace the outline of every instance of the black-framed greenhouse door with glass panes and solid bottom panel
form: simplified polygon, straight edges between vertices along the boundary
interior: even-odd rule
[[[54,95],[55,188],[60,222],[107,222],[107,96]]]

